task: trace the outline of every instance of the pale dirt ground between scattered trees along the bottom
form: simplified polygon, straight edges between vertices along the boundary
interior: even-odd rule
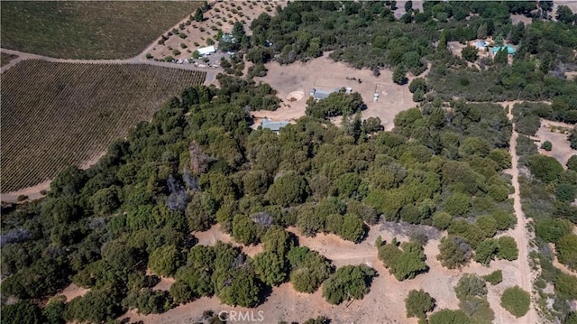
[[[302,322],[318,315],[326,315],[333,319],[334,323],[417,323],[417,319],[406,318],[404,300],[409,291],[424,289],[435,298],[437,310],[442,308],[456,310],[458,309],[458,300],[453,287],[463,273],[485,275],[500,269],[503,271],[504,281],[497,286],[489,286],[490,306],[495,311],[496,316],[494,322],[502,324],[535,322],[528,321],[527,318],[515,319],[499,306],[502,292],[509,286],[520,284],[517,262],[499,260],[492,262],[490,267],[472,263],[464,267],[462,271],[445,269],[435,258],[439,253],[437,236],[425,246],[426,264],[430,267],[429,272],[419,274],[413,280],[398,282],[377,258],[377,249],[374,246],[377,236],[381,236],[386,241],[390,241],[393,236],[397,236],[401,241],[408,240],[408,237],[399,234],[398,228],[395,227],[389,223],[373,226],[367,239],[358,245],[344,241],[332,234],[304,237],[300,235],[297,228],[289,228],[290,232],[298,236],[300,245],[307,245],[325,255],[333,260],[336,266],[368,264],[379,272],[379,276],[373,280],[371,292],[362,301],[353,301],[350,305],[348,302],[338,306],[330,305],[322,297],[321,290],[313,294],[299,293],[292,288],[290,283],[283,283],[279,287],[273,287],[266,301],[252,311],[262,310],[266,323],[276,323],[279,320]],[[508,233],[508,235],[511,234]],[[217,240],[232,242],[230,236],[223,234],[218,226],[212,227],[206,232],[196,233],[195,236],[199,239],[199,244],[203,245],[214,245]],[[249,252],[254,253],[253,251]],[[164,289],[169,288],[164,287]],[[201,298],[160,315],[143,316],[131,310],[120,319],[125,317],[130,317],[131,321],[142,319],[147,324],[192,323],[202,316],[203,310],[218,312],[220,310],[248,309],[224,305],[213,297]]]

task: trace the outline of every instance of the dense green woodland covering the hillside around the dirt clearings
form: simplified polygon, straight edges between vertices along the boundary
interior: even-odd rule
[[[252,308],[283,282],[336,305],[362,300],[384,274],[366,264],[336,266],[301,244],[295,228],[301,241],[332,233],[353,245],[366,244],[369,228],[381,220],[436,227],[443,236],[438,255],[425,255],[422,236],[376,240],[374,255],[398,282],[430,271],[427,258],[448,269],[516,260],[517,242],[504,235],[516,224],[508,198],[513,188],[503,172],[511,167],[513,130],[506,109],[491,101],[552,101],[515,106],[521,134],[534,134],[538,117],[577,121],[577,81],[561,73],[575,64],[573,15],[530,26],[509,20],[511,13],[547,17],[551,3],[539,4],[426,2],[423,13],[408,7],[399,20],[389,1],[295,2],[273,17],[262,14],[242,43],[248,60],[289,64],[333,51],[334,60],[376,75],[395,69],[398,83],[430,64],[427,77],[408,85],[418,106],[399,113],[385,132],[378,118],[362,121],[361,96],[339,92],[309,101],[307,116],[275,134],[250,128],[251,110],[279,106],[269,85],[220,75],[220,88],[175,94],[95,166],[60,172],[48,197],[3,206],[3,323],[100,323],[127,310],[162,313],[205,296]],[[517,42],[512,64],[469,64],[446,47],[482,35]],[[327,120],[342,115],[340,127]],[[550,319],[570,322],[575,277],[554,268],[553,259],[556,253],[575,269],[577,161],[564,170],[525,135],[517,153],[526,168],[523,207],[535,221],[532,257],[543,270],[537,306]],[[262,252],[198,244],[196,236],[215,224]],[[454,290],[460,309],[437,310],[429,323],[491,322],[485,281],[498,284],[502,274],[463,275]],[[160,276],[174,279],[169,291],[152,289]],[[89,292],[46,303],[70,282]],[[547,282],[554,293],[545,292]],[[523,316],[527,292],[517,288],[505,290],[502,305]],[[406,305],[409,317],[422,320],[435,309],[424,291],[409,292]]]

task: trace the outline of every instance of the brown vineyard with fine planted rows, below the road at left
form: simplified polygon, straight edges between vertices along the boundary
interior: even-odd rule
[[[130,126],[206,73],[136,64],[24,60],[0,76],[2,192],[103,153]]]

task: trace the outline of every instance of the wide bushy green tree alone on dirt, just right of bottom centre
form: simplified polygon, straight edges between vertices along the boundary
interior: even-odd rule
[[[323,297],[334,305],[352,299],[362,300],[376,274],[374,269],[364,264],[340,267],[323,284]]]

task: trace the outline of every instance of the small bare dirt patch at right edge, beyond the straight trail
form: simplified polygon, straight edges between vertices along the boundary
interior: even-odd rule
[[[539,130],[536,133],[536,138],[540,140],[540,143],[545,141],[551,142],[553,144],[553,149],[550,152],[547,152],[544,149],[539,148],[539,153],[553,156],[563,165],[563,168],[566,169],[566,164],[567,161],[569,161],[569,158],[571,158],[572,155],[577,154],[577,150],[573,150],[567,140],[569,131],[574,127],[575,125],[541,119],[541,127],[539,127]]]

